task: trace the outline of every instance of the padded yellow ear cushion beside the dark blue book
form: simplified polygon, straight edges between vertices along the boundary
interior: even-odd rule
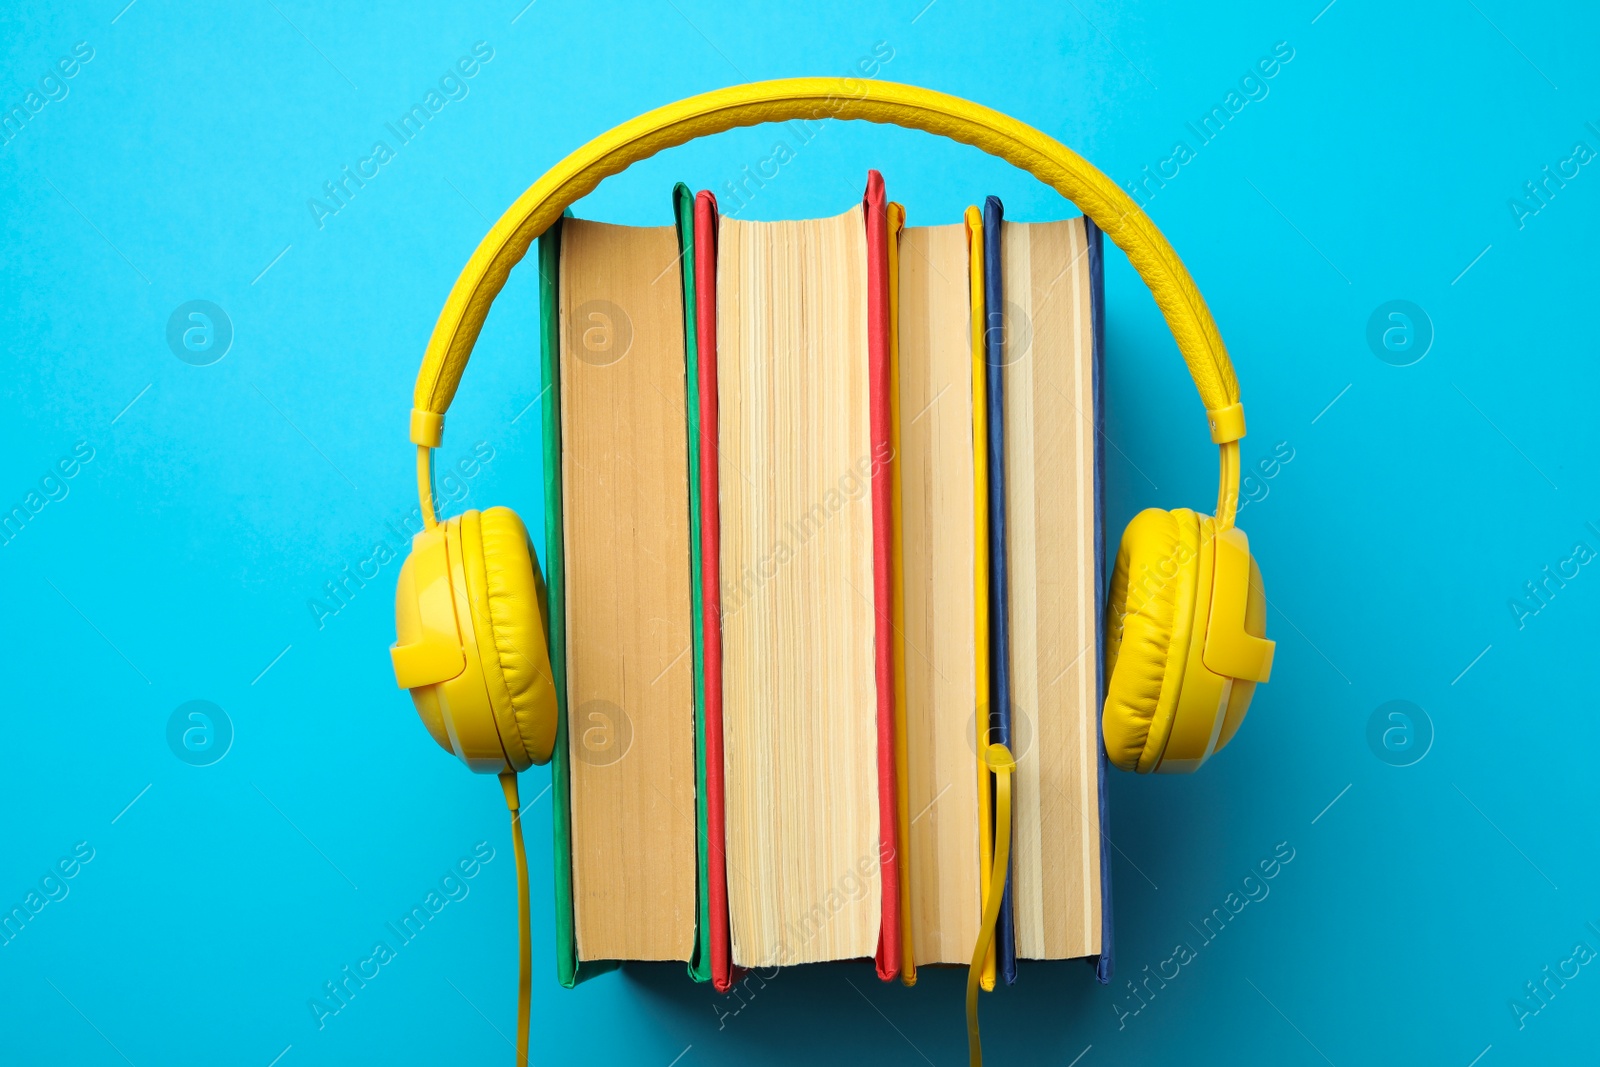
[[[1166,749],[1194,635],[1200,537],[1211,520],[1181,507],[1133,517],[1106,613],[1106,755],[1147,773]]]

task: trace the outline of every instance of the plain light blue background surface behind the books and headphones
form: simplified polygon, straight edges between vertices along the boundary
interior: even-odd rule
[[[1293,450],[1242,518],[1272,598],[1274,680],[1205,773],[1112,779],[1118,977],[1106,989],[1080,963],[1024,966],[984,1000],[992,1059],[1594,1056],[1600,968],[1552,982],[1522,1029],[1510,1003],[1574,944],[1600,949],[1600,571],[1552,582],[1522,627],[1510,601],[1574,544],[1600,549],[1587,525],[1600,525],[1600,173],[1582,166],[1522,227],[1509,208],[1574,142],[1600,149],[1586,125],[1600,126],[1592,11],[907,0],[773,16],[539,0],[518,13],[523,2],[3,14],[6,107],[74,43],[94,58],[0,147],[0,506],[22,504],[77,442],[94,458],[0,545],[0,902],[21,902],[78,841],[94,859],[0,947],[0,1059],[510,1057],[499,792],[442,755],[394,688],[397,565],[322,627],[307,601],[416,504],[413,374],[456,272],[517,194],[650,107],[846,74],[875,42],[893,48],[882,77],[1016,115],[1120,182],[1176,141],[1197,147],[1186,123],[1277,42],[1294,50],[1267,96],[1150,200],[1234,354],[1246,462]],[[318,229],[307,198],[390,141],[384,123],[474,42],[494,51],[469,96]],[[667,152],[578,210],[666,224],[674,181],[722,189],[773,139]],[[749,218],[840,211],[869,166],[914,224],[954,221],[990,192],[1011,218],[1070,213],[971,149],[830,123]],[[538,528],[531,278],[520,270],[496,304],[442,458],[486,442],[494,459],[466,504],[509,504]],[[234,325],[211,366],[165,339],[190,299]],[[1390,299],[1432,320],[1413,366],[1368,347],[1368,317]],[[1194,389],[1120,253],[1107,318],[1107,530],[1147,506],[1210,510],[1214,451]],[[235,733],[208,768],[166,742],[190,699],[221,705]],[[1432,721],[1413,766],[1366,741],[1392,699]],[[523,795],[546,781],[530,773]],[[742,1005],[678,966],[560,990],[549,833],[542,797],[528,817],[539,1062],[963,1061],[957,971],[907,990],[867,966],[802,968]],[[478,841],[494,859],[470,894],[318,1030],[307,1001],[323,982]],[[1190,925],[1280,841],[1294,859],[1270,896],[1118,1019],[1138,1003],[1123,979],[1179,941],[1198,945]]]

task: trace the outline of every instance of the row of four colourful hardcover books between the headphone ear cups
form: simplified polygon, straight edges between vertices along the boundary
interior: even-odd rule
[[[539,242],[557,966],[1110,965],[1101,234],[565,218]]]

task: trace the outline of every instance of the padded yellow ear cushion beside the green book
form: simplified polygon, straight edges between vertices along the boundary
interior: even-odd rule
[[[461,517],[467,601],[490,705],[515,769],[546,763],[555,745],[555,681],[539,609],[528,530],[517,512]]]

